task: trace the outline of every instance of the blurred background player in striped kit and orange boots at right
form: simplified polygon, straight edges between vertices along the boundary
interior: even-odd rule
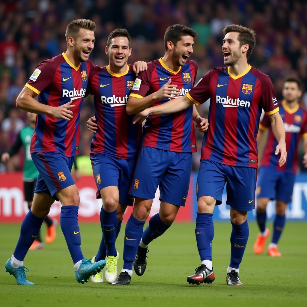
[[[300,139],[303,139],[303,164],[307,166],[307,113],[298,104],[302,95],[301,81],[296,77],[285,80],[282,90],[283,100],[279,103],[279,113],[285,124],[287,162],[281,167],[278,158],[274,155],[277,141],[274,138],[270,119],[264,116],[257,136],[259,142],[263,138],[263,131],[269,130],[266,147],[261,160],[261,169],[257,187],[257,223],[260,234],[254,244],[255,254],[261,254],[265,248],[265,241],[270,234],[266,228],[266,206],[269,200],[276,199],[276,216],[273,223],[273,235],[268,246],[267,254],[279,257],[277,243],[285,227],[287,203],[292,199],[295,173],[297,171],[297,151]]]

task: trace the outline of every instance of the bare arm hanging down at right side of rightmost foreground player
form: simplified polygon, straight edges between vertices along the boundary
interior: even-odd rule
[[[282,166],[287,161],[287,150],[286,150],[286,131],[285,126],[282,121],[282,118],[279,115],[279,112],[269,115],[273,134],[278,141],[278,145],[276,146],[275,154],[278,155],[280,153],[279,158],[279,166]]]

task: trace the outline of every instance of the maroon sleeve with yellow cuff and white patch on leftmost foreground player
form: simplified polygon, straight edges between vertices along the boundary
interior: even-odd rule
[[[52,62],[48,60],[42,61],[37,68],[35,68],[33,74],[29,78],[30,80],[25,84],[25,87],[28,87],[39,95],[41,91],[49,87],[52,83],[55,71],[56,67]]]

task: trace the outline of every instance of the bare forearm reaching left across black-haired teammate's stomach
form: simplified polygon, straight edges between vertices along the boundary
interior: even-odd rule
[[[166,103],[150,107],[134,116],[133,123],[143,122],[148,116],[155,114],[176,113],[191,107],[193,102],[186,95],[170,100]]]

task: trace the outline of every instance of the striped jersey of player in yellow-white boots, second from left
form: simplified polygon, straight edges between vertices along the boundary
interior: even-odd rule
[[[88,92],[94,95],[98,130],[91,142],[91,153],[105,153],[119,159],[134,159],[141,142],[142,125],[133,124],[126,104],[135,73],[127,65],[124,73],[115,74],[109,66],[99,67],[89,75]]]

